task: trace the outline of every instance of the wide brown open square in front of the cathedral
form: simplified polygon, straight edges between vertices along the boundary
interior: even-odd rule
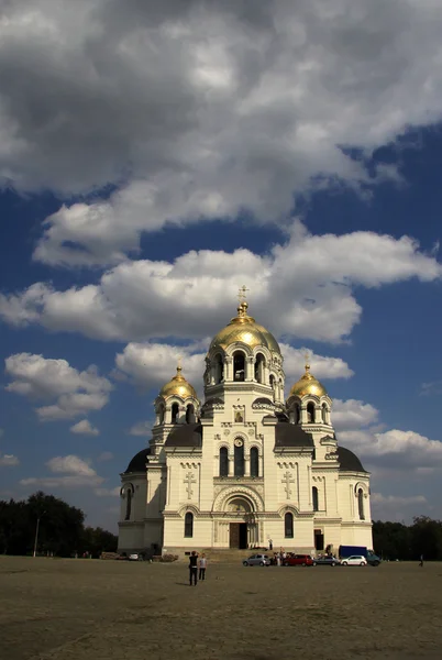
[[[243,568],[0,558],[0,658],[442,657],[442,564]]]

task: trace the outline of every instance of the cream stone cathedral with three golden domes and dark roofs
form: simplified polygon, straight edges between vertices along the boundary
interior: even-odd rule
[[[339,444],[332,399],[309,364],[285,399],[279,344],[247,309],[243,287],[202,404],[180,365],[159,391],[152,439],[121,474],[120,552],[372,548],[369,474]]]

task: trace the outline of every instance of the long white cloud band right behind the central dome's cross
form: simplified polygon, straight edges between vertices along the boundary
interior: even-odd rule
[[[173,263],[126,262],[98,284],[55,290],[40,283],[2,294],[0,316],[15,326],[40,323],[104,340],[201,340],[225,324],[239,283],[245,283],[251,314],[280,339],[340,342],[360,321],[355,287],[431,282],[441,273],[409,237],[311,235],[296,222],[288,242],[268,255],[203,250]]]

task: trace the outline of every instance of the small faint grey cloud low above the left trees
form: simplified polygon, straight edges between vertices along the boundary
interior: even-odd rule
[[[98,488],[104,482],[88,461],[75,454],[54,457],[46,463],[49,472],[57,476],[22,479],[22,486],[41,488],[77,488],[80,486]]]

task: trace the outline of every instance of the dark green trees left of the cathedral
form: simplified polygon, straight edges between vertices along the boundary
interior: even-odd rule
[[[85,527],[84,512],[53,495],[38,492],[26,501],[0,501],[1,554],[32,554],[36,536],[36,552],[55,557],[99,557],[115,551],[118,542],[101,527]]]

